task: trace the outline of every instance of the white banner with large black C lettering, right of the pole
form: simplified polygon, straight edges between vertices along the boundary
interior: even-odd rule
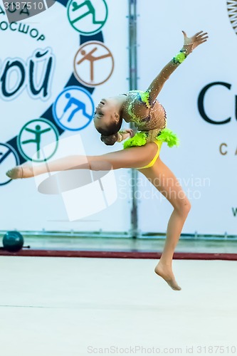
[[[138,1],[140,90],[181,49],[181,30],[209,33],[158,98],[181,140],[179,148],[163,145],[160,157],[192,204],[184,233],[237,234],[236,9],[237,1]],[[140,229],[166,231],[172,206],[139,180]]]

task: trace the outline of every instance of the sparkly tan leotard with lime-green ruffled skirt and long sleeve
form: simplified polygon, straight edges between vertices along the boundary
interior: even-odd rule
[[[192,44],[192,43],[191,43]],[[139,168],[152,167],[162,146],[162,142],[167,142],[169,147],[179,145],[179,139],[172,130],[166,128],[167,115],[163,106],[157,100],[157,95],[162,90],[165,81],[174,70],[184,61],[186,56],[192,51],[192,46],[185,45],[177,56],[165,66],[162,71],[153,80],[149,88],[142,92],[140,90],[131,90],[127,93],[127,100],[123,111],[130,121],[135,122],[138,129],[136,135],[124,142],[124,148],[132,146],[142,146],[147,142],[155,142],[158,150],[157,155],[147,166]]]

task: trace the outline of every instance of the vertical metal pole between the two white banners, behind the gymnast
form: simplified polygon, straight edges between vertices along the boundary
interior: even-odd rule
[[[130,66],[130,90],[137,89],[137,0],[129,1],[129,66]],[[130,127],[135,128],[131,122]],[[137,238],[137,169],[131,169],[132,175],[132,211],[131,211],[131,228],[132,238]]]

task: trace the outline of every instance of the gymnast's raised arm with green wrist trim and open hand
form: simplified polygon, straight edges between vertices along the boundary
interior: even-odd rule
[[[163,88],[164,83],[167,79],[169,79],[169,75],[171,75],[174,70],[184,61],[184,59],[201,43],[207,41],[207,33],[200,31],[196,33],[192,37],[187,37],[186,33],[182,31],[184,34],[184,46],[181,48],[177,56],[175,56],[172,61],[170,61],[157,75],[156,78],[152,81],[151,85],[149,85],[149,99],[152,103],[159,95],[160,91]]]

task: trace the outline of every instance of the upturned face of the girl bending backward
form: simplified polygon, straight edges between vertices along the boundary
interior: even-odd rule
[[[95,108],[94,124],[95,128],[106,130],[111,122],[116,120],[119,115],[116,113],[116,100],[114,98],[101,99]]]

